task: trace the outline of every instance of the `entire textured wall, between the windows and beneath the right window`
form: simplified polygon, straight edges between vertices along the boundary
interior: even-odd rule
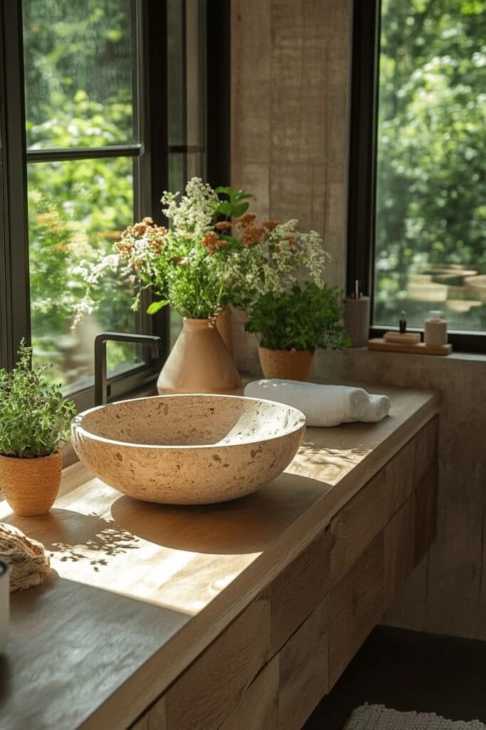
[[[324,237],[343,285],[350,86],[348,0],[232,0],[232,184],[265,217],[299,218]],[[238,364],[259,375],[256,340],[235,315]],[[486,640],[486,357],[318,353],[327,382],[443,393],[435,545],[386,619]]]

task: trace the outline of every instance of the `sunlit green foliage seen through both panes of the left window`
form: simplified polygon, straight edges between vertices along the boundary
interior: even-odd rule
[[[29,150],[133,142],[130,7],[130,0],[23,0]],[[85,261],[108,253],[133,222],[132,159],[29,164],[28,215],[34,356],[54,362],[52,380],[87,385],[93,331],[71,331],[74,304]],[[133,330],[132,292],[114,276],[104,286],[93,329]],[[133,362],[133,349],[110,346],[108,358],[116,369]]]

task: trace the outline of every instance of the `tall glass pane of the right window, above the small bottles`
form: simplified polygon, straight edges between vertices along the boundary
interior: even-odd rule
[[[486,331],[486,0],[383,0],[375,323]]]

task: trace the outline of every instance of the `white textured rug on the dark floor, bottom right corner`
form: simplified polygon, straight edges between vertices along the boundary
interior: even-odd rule
[[[363,704],[353,710],[345,730],[486,730],[486,725],[479,720],[446,720],[434,712],[399,712],[383,704]]]

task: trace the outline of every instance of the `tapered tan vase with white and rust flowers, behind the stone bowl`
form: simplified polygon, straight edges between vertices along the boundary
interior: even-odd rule
[[[88,291],[79,305],[80,315],[93,311],[93,295],[108,269],[138,284],[134,309],[140,304],[141,291],[149,289],[155,297],[149,314],[171,304],[183,318],[181,334],[157,381],[159,393],[242,391],[240,375],[215,323],[232,299],[226,266],[240,248],[227,219],[242,215],[249,198],[250,193],[232,188],[215,191],[194,177],[184,196],[168,192],[162,196],[170,229],[157,226],[151,218],[129,226],[113,253],[87,274]]]

